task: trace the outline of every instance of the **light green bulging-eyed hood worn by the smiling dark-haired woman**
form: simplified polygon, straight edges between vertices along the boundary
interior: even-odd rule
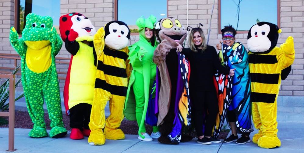
[[[136,20],[136,25],[139,27],[140,40],[148,41],[148,39],[145,36],[145,28],[153,29],[155,22],[156,22],[156,17],[154,15],[150,15],[149,18],[146,19],[142,16]],[[156,38],[153,35],[153,37],[151,38],[151,43],[153,46],[155,45],[155,40]]]

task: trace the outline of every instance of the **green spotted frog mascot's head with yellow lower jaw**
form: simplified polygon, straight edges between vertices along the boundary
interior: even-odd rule
[[[50,16],[29,13],[26,21],[26,25],[22,31],[22,38],[27,47],[41,49],[49,45],[50,38],[54,36],[51,31],[55,30],[52,28],[53,19]]]

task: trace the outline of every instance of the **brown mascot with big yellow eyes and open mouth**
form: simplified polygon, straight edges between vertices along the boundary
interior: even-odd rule
[[[183,44],[187,31],[176,18],[161,19],[156,23],[155,30],[157,39],[161,41],[153,55],[153,61],[157,64],[157,125],[161,125],[158,141],[179,144],[181,139],[192,139],[182,136],[182,127],[190,125],[191,121],[188,88],[190,66],[184,55],[176,53],[176,42]]]

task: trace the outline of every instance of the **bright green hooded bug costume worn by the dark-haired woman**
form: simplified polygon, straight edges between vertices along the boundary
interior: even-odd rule
[[[146,133],[145,118],[149,101],[150,89],[156,77],[156,64],[153,62],[154,50],[158,45],[155,37],[152,37],[151,44],[145,37],[145,28],[154,28],[156,18],[150,15],[149,18],[138,18],[136,25],[139,27],[140,40],[129,46],[129,60],[132,65],[132,73],[127,90],[124,115],[131,121],[137,121],[139,126],[138,135],[144,138],[142,133]],[[133,87],[133,88],[131,88]],[[133,92],[134,91],[134,92]],[[134,98],[135,101],[134,102]],[[157,132],[158,127],[153,127],[153,132]]]

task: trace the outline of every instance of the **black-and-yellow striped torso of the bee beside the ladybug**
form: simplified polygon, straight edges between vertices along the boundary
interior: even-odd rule
[[[126,96],[128,75],[126,72],[128,49],[112,50],[107,46],[98,60],[95,88],[100,88],[113,95]]]

